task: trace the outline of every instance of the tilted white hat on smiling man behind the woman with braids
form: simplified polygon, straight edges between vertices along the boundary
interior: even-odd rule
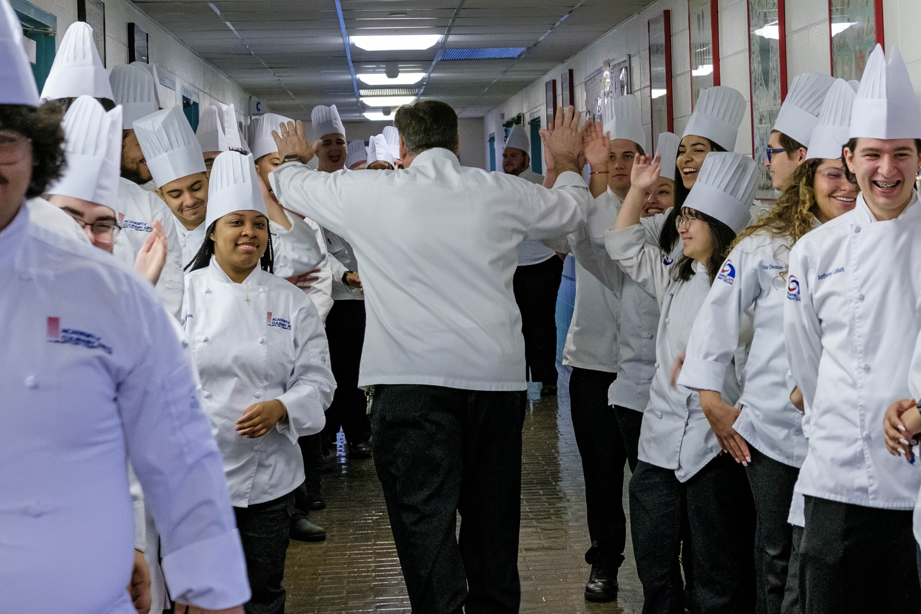
[[[179,106],[137,120],[134,134],[157,188],[181,177],[204,173],[202,145]]]

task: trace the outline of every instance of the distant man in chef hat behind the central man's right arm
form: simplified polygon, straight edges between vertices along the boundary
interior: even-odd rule
[[[502,171],[542,185],[543,175],[530,169],[530,142],[524,126],[516,124],[502,150]],[[563,261],[540,241],[518,246],[519,265],[512,285],[521,312],[524,355],[531,381],[541,382],[541,396],[556,395],[556,295],[563,278]],[[525,372],[527,376],[527,371]],[[527,378],[527,377],[526,377]]]

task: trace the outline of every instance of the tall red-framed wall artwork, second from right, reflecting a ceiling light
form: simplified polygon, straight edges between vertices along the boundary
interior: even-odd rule
[[[771,200],[776,192],[764,166],[771,130],[787,96],[787,32],[784,0],[748,0],[749,68],[752,75],[752,152],[761,171],[756,199]]]

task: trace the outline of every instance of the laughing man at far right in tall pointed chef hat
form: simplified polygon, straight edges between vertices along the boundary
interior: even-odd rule
[[[912,509],[921,472],[887,454],[883,414],[910,396],[921,330],[921,109],[897,47],[870,55],[845,163],[856,207],[790,252],[785,341],[809,451],[799,563],[806,614],[918,612]]]

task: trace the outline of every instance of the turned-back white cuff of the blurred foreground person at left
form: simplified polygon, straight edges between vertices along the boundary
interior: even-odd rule
[[[250,600],[243,545],[233,528],[163,557],[171,597],[204,609],[234,608]],[[216,574],[215,571],[221,573]],[[220,581],[215,581],[216,576]]]

